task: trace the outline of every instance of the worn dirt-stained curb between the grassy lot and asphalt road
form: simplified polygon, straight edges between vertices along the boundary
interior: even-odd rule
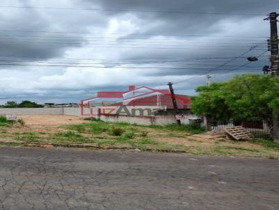
[[[137,148],[137,147],[112,147],[93,144],[63,144],[63,143],[38,143],[38,142],[0,142],[0,145],[18,144],[27,147],[68,147],[68,148],[80,148],[80,149],[94,149],[94,150],[135,150],[137,152],[165,152],[165,153],[188,153],[186,150],[172,150],[172,149],[153,149],[153,148]]]

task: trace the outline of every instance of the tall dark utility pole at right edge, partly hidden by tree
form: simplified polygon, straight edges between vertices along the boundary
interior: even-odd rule
[[[270,51],[271,51],[271,75],[279,79],[279,51],[278,51],[278,30],[277,30],[277,17],[279,14],[270,13],[269,20],[271,25],[271,38],[270,38]],[[279,118],[273,111],[273,139],[279,142]]]

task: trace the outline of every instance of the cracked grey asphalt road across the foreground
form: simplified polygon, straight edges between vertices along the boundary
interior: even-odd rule
[[[0,209],[279,209],[279,161],[0,147]]]

